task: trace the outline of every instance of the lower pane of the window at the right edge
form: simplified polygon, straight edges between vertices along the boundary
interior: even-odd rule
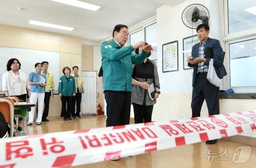
[[[229,44],[230,87],[256,86],[256,39]]]

